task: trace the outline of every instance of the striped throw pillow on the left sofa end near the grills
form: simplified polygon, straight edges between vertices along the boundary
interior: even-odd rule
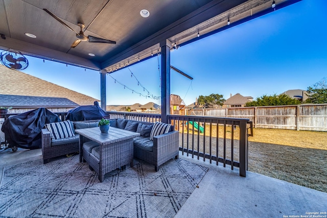
[[[68,119],[63,122],[45,124],[45,128],[51,133],[51,139],[75,136],[72,130],[71,122]]]

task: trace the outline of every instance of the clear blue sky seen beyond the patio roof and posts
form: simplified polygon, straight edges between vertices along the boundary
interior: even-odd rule
[[[240,93],[254,99],[288,89],[304,89],[327,77],[327,1],[302,0],[242,25],[181,46],[171,64],[194,80],[171,70],[171,93],[186,105],[199,95]],[[27,74],[100,99],[99,71],[28,57]],[[160,62],[160,60],[159,60]],[[157,57],[111,74],[138,92],[136,78],[160,95]],[[189,90],[188,90],[189,89]],[[147,94],[147,93],[145,93]],[[148,102],[107,76],[107,105]]]

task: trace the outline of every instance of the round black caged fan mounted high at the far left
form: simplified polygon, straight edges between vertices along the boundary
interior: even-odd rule
[[[4,51],[1,53],[1,62],[8,68],[14,70],[26,69],[29,61],[18,51]]]

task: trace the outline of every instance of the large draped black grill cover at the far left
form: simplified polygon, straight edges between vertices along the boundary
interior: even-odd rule
[[[41,129],[45,124],[60,122],[59,117],[45,108],[10,116],[1,130],[12,146],[23,149],[41,148]]]

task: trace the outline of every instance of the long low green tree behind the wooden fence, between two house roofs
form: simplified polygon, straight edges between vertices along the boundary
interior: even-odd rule
[[[256,98],[255,101],[247,102],[245,107],[259,107],[259,106],[277,106],[277,105],[299,105],[301,102],[297,99],[292,99],[287,94],[280,95],[262,95]]]

